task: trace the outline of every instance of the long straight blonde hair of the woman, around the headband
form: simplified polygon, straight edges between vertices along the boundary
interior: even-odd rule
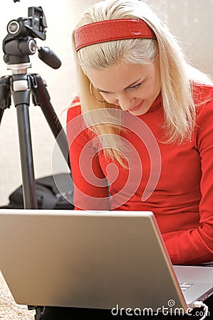
[[[152,28],[157,41],[146,38],[110,41],[87,46],[76,52],[74,33],[80,26],[117,18],[141,18]],[[122,119],[118,119],[118,114],[116,117],[110,114],[109,109],[106,108],[112,108],[112,105],[109,105],[108,102],[94,100],[90,94],[90,81],[86,76],[86,70],[87,68],[103,70],[118,62],[143,65],[159,60],[166,142],[182,143],[185,139],[191,139],[196,107],[192,97],[192,81],[209,85],[212,85],[212,82],[204,73],[189,65],[179,41],[172,35],[167,23],[162,21],[147,4],[138,0],[98,2],[85,12],[73,31],[73,50],[83,117],[86,125],[91,126],[90,129],[102,137],[101,143],[105,154],[115,156],[122,163],[120,150],[123,146],[119,139],[115,139],[115,132],[118,134],[118,127],[122,124]],[[100,100],[102,98],[99,92],[97,92],[97,97]],[[118,108],[115,105],[113,107]],[[102,109],[103,112],[88,112],[98,109]],[[101,125],[102,123],[107,123],[107,125]],[[92,124],[98,125],[93,126]]]

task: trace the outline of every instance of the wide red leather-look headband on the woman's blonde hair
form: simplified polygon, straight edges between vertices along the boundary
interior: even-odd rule
[[[141,19],[114,19],[89,23],[78,28],[74,37],[76,51],[95,43],[114,40],[133,38],[157,40],[152,29]]]

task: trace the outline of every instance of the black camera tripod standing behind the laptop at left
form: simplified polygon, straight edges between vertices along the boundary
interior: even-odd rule
[[[39,22],[39,23],[38,23]],[[38,25],[39,24],[39,25]],[[4,61],[12,75],[0,78],[0,124],[4,110],[11,106],[11,96],[16,107],[19,129],[19,149],[21,156],[21,176],[23,181],[24,208],[37,209],[36,183],[33,167],[33,152],[31,144],[31,128],[28,107],[32,94],[33,105],[38,105],[46,117],[51,131],[57,138],[58,146],[70,167],[68,160],[68,142],[61,123],[50,102],[50,95],[46,90],[41,76],[28,74],[31,67],[29,55],[36,52],[34,36],[45,39],[46,19],[41,7],[28,9],[28,18],[19,18],[8,25],[9,34],[4,38]],[[59,68],[61,61],[48,48],[40,48],[39,58],[52,68]],[[59,134],[60,133],[60,134]],[[40,319],[43,306],[28,306],[36,309],[35,320]]]

